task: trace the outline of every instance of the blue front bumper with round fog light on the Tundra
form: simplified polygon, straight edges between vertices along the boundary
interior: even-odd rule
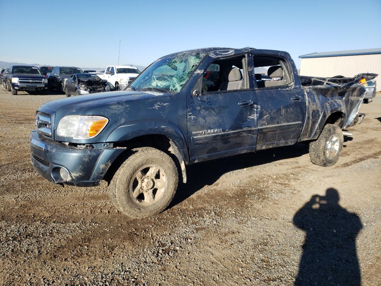
[[[53,184],[99,185],[110,165],[125,149],[79,149],[41,135],[29,135],[30,161],[36,172]],[[64,169],[67,180],[60,175]]]

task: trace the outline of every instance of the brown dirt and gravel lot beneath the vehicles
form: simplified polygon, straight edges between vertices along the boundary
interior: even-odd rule
[[[31,168],[35,109],[62,97],[0,91],[0,284],[381,285],[380,93],[333,167],[304,144],[195,164],[143,220],[106,183],[61,188]]]

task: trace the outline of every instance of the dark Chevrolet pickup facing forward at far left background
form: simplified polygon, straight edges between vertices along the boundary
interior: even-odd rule
[[[10,66],[5,72],[5,88],[12,95],[18,91],[45,92],[48,89],[48,80],[35,66]]]

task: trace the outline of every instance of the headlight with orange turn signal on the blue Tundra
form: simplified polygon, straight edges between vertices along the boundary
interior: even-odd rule
[[[103,116],[68,115],[61,118],[57,135],[74,139],[92,138],[101,133],[109,119]]]

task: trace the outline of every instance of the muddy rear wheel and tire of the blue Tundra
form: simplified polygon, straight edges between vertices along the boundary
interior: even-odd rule
[[[344,136],[341,128],[334,124],[326,124],[317,140],[309,145],[311,162],[315,165],[329,167],[339,160],[343,148]]]

